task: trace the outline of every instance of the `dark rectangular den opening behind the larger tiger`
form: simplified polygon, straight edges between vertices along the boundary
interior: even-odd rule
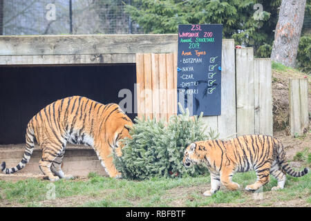
[[[132,93],[135,64],[96,66],[0,66],[0,144],[25,143],[29,120],[57,99],[79,95],[116,103],[121,89]],[[135,113],[126,113],[133,119]]]

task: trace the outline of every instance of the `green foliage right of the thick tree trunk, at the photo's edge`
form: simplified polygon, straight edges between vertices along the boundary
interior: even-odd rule
[[[297,66],[306,73],[311,72],[311,35],[304,35],[300,38],[297,52]]]

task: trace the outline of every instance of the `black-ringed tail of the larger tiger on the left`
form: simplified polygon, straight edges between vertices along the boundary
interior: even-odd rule
[[[34,131],[32,127],[30,126],[30,124],[28,124],[27,130],[26,130],[26,150],[25,150],[25,153],[23,153],[23,159],[21,159],[21,162],[19,162],[17,166],[12,167],[10,169],[6,168],[6,162],[2,162],[1,164],[2,173],[6,173],[6,174],[15,173],[23,169],[23,167],[26,166],[26,164],[29,162],[30,157],[32,155],[33,148],[35,147],[34,140],[35,140]]]

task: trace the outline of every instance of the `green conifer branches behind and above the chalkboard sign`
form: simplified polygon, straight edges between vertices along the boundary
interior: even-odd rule
[[[256,3],[262,4],[262,13],[254,9]],[[179,24],[223,23],[225,38],[269,57],[280,5],[281,0],[135,0],[125,11],[144,32],[154,34],[176,33]]]

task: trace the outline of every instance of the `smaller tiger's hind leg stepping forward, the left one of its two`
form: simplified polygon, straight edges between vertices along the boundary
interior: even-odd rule
[[[267,182],[270,182],[270,165],[270,162],[265,162],[263,166],[255,169],[257,181],[254,184],[247,185],[245,187],[247,191],[256,191],[261,188],[261,186],[267,184]]]

